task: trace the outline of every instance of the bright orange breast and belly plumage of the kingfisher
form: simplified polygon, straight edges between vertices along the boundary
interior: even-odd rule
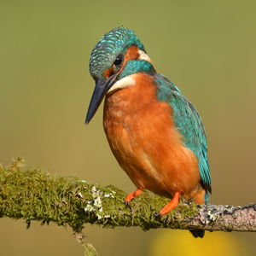
[[[185,198],[201,191],[195,154],[185,148],[172,119],[172,108],[158,102],[154,79],[132,75],[137,84],[107,95],[104,129],[119,165],[137,188]]]

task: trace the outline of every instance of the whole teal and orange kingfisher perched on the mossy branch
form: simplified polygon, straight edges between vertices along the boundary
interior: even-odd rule
[[[103,98],[103,126],[109,146],[137,190],[170,198],[160,216],[180,198],[204,204],[212,192],[207,137],[199,113],[164,75],[157,73],[131,29],[119,26],[102,36],[90,55],[96,82],[85,124]],[[199,231],[199,232],[198,232]],[[203,236],[203,230],[192,230]]]

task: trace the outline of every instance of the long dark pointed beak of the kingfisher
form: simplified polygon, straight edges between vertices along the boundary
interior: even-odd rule
[[[108,92],[109,88],[115,83],[118,74],[114,74],[105,81],[96,79],[96,86],[90,99],[90,105],[86,114],[85,124],[89,124],[97,109],[102,103],[103,97]]]

